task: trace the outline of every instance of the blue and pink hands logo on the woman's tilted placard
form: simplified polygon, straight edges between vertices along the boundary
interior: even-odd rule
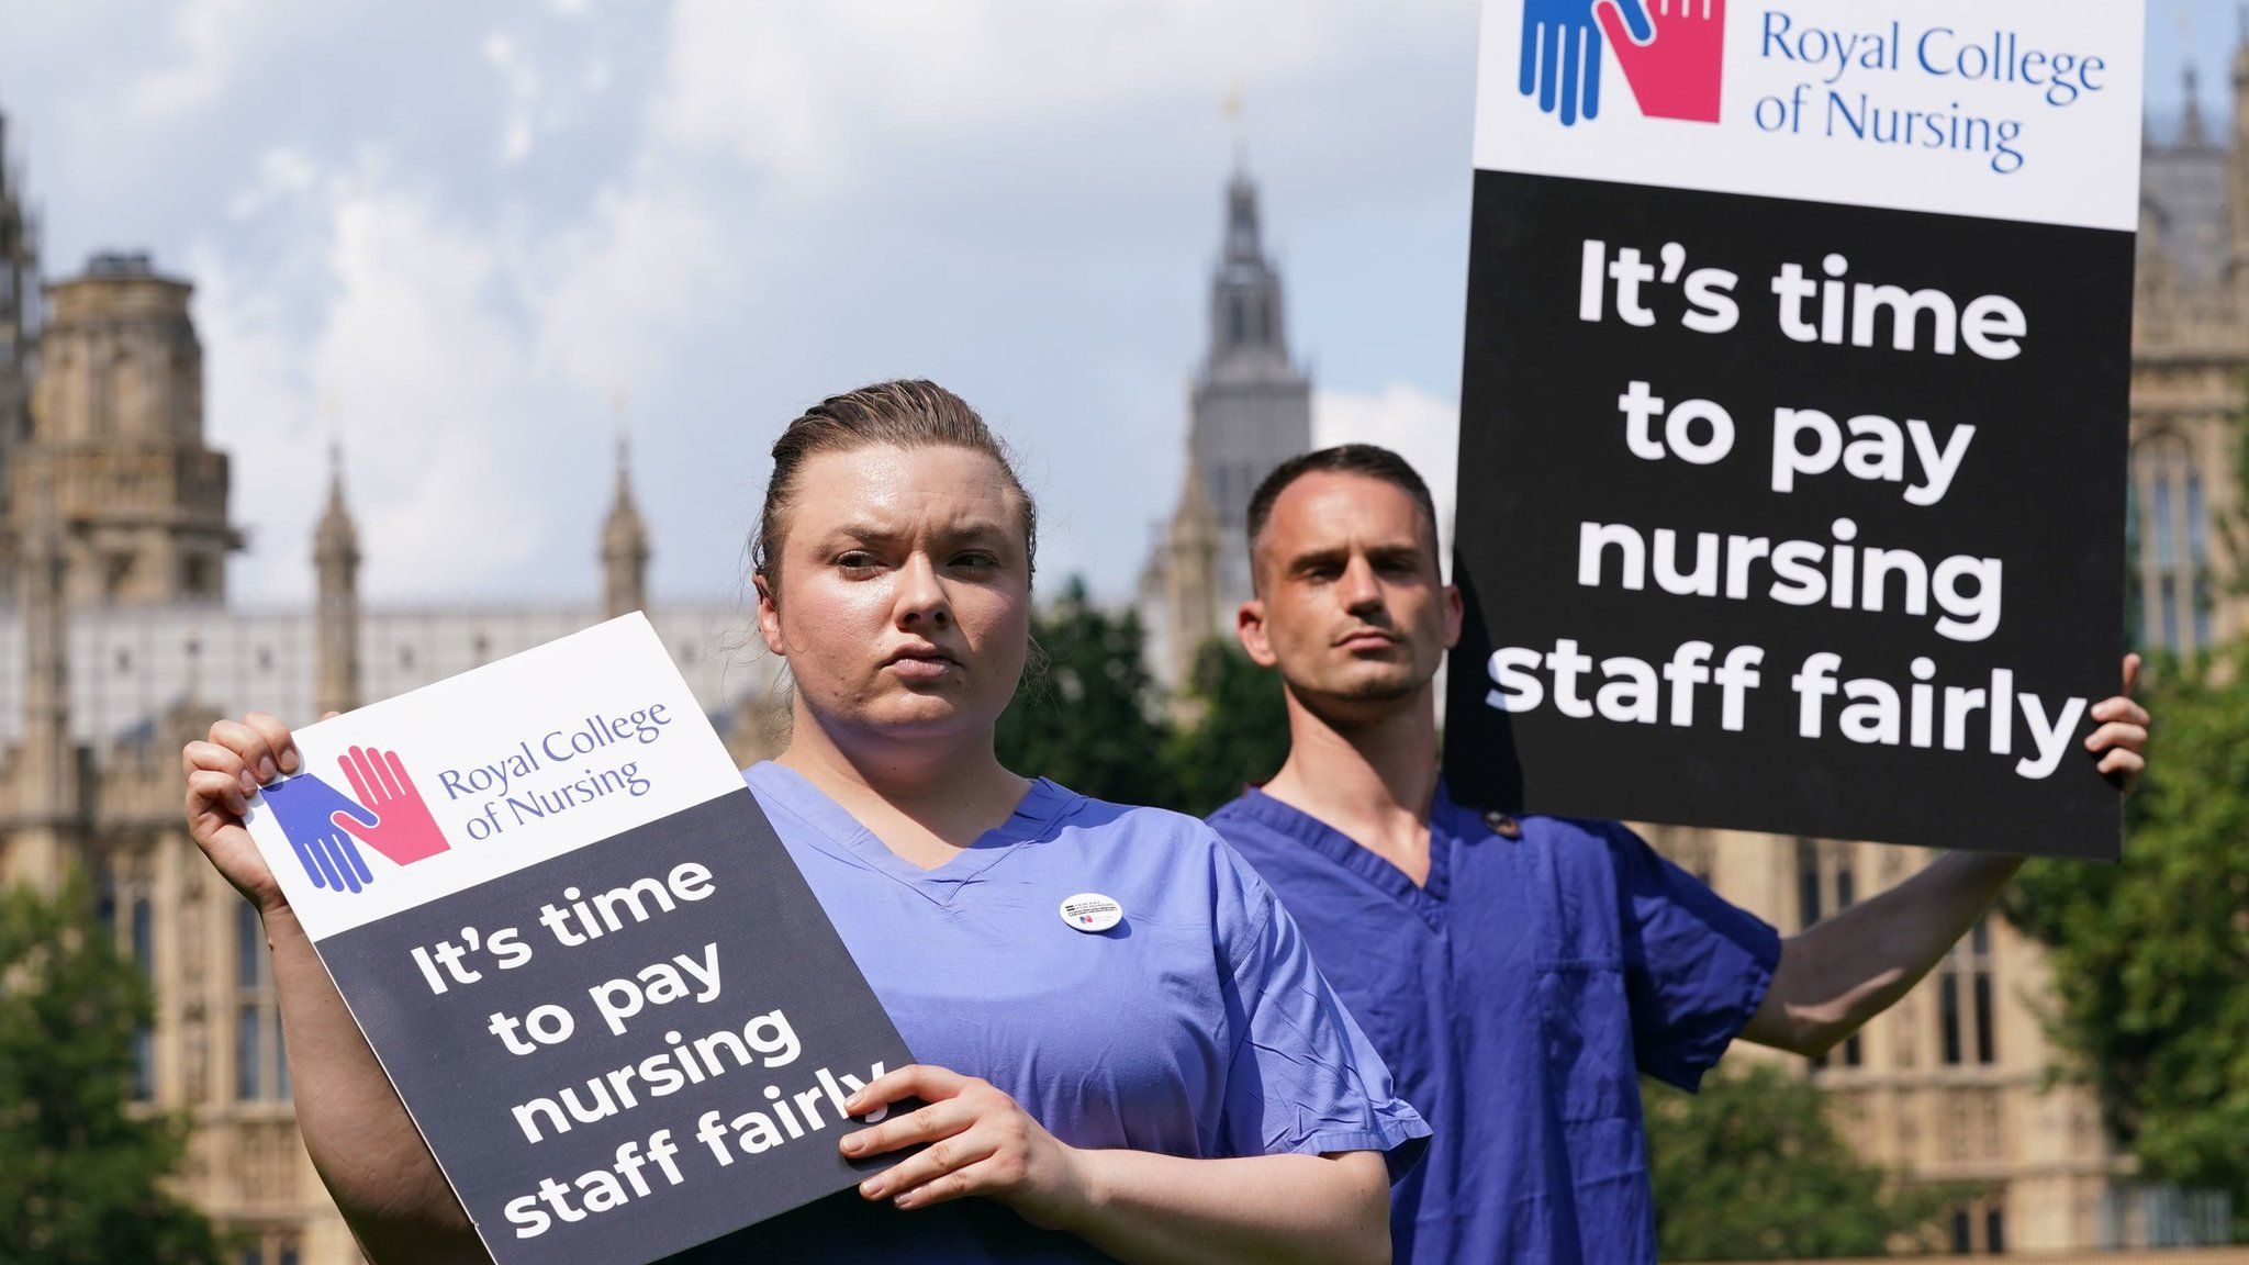
[[[373,882],[360,844],[391,864],[414,864],[450,846],[398,752],[351,747],[337,763],[351,781],[349,797],[310,772],[263,788],[313,887],[360,891]]]

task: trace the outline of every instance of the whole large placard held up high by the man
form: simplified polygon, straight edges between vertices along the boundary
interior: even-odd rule
[[[2116,853],[2141,23],[1487,0],[1455,795]]]

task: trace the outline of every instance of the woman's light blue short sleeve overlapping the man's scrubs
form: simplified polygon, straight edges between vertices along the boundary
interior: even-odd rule
[[[1397,1182],[1421,1159],[1428,1125],[1390,1085],[1311,948],[1273,891],[1212,837],[1217,952],[1226,1031],[1221,1143],[1230,1155],[1381,1150]]]

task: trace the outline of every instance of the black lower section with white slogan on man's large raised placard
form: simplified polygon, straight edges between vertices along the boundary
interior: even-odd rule
[[[1455,795],[2116,855],[2130,299],[2130,232],[1478,171]]]

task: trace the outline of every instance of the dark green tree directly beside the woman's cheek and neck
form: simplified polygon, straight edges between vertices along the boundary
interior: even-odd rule
[[[1109,614],[1071,578],[1062,599],[1032,619],[1048,655],[1026,671],[999,720],[999,759],[1026,777],[1116,804],[1172,804],[1158,759],[1167,727],[1142,655],[1140,617]]]

